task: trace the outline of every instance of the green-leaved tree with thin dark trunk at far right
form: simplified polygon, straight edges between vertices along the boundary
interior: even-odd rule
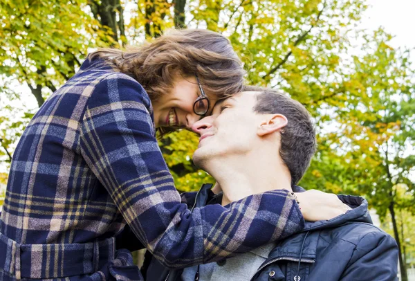
[[[407,280],[396,213],[414,214],[415,73],[409,51],[391,48],[384,30],[365,39],[367,53],[353,57],[356,89],[344,102],[347,106],[332,114],[340,128],[326,139],[326,148],[342,159],[341,168],[318,171],[329,172],[329,179],[339,177],[344,190],[365,194],[381,219],[389,212],[402,280]],[[315,166],[326,164],[319,160]]]

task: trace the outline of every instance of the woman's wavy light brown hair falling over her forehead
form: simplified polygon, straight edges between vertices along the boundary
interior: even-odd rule
[[[125,51],[102,48],[89,55],[115,64],[135,78],[154,102],[169,93],[177,75],[198,75],[203,90],[221,99],[241,91],[245,71],[230,41],[210,30],[169,30],[165,35]]]

